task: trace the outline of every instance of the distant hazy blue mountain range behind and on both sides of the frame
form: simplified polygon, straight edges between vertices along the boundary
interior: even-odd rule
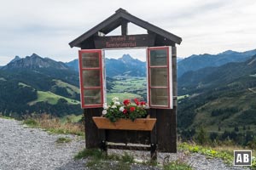
[[[220,54],[193,54],[185,59],[177,58],[177,77],[181,77],[188,71],[197,71],[206,67],[218,67],[230,62],[246,61],[254,54],[256,54],[256,49],[245,52],[227,50]],[[66,65],[75,71],[79,71],[79,59],[74,59],[66,63]],[[146,77],[146,62],[133,59],[129,54],[124,54],[119,59],[106,58],[106,70],[108,77]]]

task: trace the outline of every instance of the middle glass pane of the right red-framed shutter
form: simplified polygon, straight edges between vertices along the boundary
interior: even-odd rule
[[[167,68],[150,68],[150,86],[167,87]]]

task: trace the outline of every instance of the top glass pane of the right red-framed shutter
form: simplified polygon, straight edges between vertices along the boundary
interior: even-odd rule
[[[150,66],[167,65],[167,50],[150,50]]]

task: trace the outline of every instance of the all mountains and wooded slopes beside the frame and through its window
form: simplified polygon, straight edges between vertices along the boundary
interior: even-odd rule
[[[192,55],[177,62],[177,125],[209,131],[251,125],[256,129],[256,50]],[[146,77],[146,63],[129,54],[106,59],[107,87],[115,77]],[[0,114],[80,114],[79,64],[32,54],[0,68]],[[4,89],[4,90],[2,90]]]

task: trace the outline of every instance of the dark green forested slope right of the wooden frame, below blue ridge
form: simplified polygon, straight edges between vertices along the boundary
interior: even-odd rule
[[[209,132],[256,128],[256,55],[229,63],[189,71],[178,78],[178,126],[206,127]]]

